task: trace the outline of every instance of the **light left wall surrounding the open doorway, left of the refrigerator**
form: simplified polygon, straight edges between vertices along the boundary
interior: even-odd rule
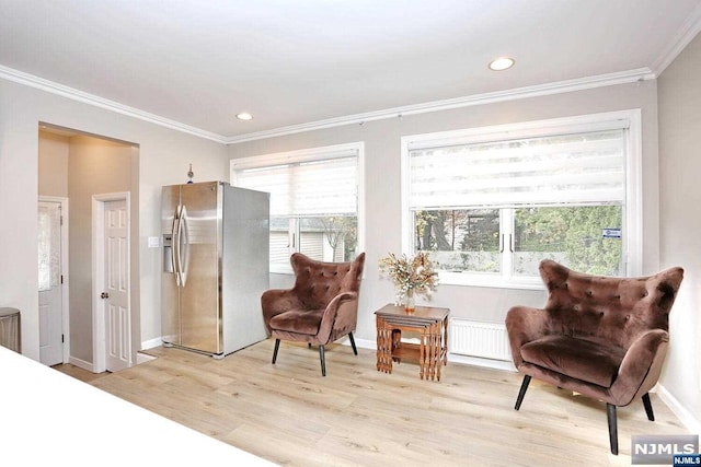
[[[38,124],[72,128],[139,144],[139,291],[141,341],[160,337],[160,249],[148,236],[160,234],[160,187],[228,179],[226,148],[219,143],[0,80],[0,304],[22,312],[22,349],[38,360],[36,206]],[[135,342],[135,346],[138,346]]]

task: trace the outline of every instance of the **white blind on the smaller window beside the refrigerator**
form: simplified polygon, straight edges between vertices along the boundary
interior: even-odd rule
[[[256,157],[232,161],[232,182],[271,194],[271,215],[356,215],[358,207],[357,150],[315,153],[313,157]],[[264,164],[274,165],[267,165]],[[257,166],[256,166],[257,165]]]

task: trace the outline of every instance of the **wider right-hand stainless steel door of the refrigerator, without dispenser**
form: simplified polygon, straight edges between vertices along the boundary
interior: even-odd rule
[[[181,288],[181,346],[221,353],[221,202],[218,183],[182,185],[179,241],[184,277]]]

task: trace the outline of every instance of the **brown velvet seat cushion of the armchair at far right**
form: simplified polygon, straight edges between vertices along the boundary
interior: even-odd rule
[[[565,335],[549,335],[520,348],[524,361],[608,388],[616,381],[625,349]]]

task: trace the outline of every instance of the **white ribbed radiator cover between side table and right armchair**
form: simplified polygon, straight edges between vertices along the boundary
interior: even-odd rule
[[[512,361],[505,325],[452,318],[448,329],[450,353]]]

